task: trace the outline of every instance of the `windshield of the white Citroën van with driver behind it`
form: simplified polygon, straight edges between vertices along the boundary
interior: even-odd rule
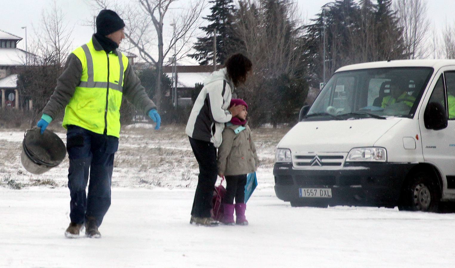
[[[335,73],[303,120],[412,118],[433,68],[396,67]]]

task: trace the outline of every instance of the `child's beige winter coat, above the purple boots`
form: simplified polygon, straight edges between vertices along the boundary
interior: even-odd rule
[[[238,132],[239,127],[242,126],[226,124],[222,132],[223,139],[218,148],[218,174],[248,174],[259,166],[250,127],[246,124],[246,129]]]

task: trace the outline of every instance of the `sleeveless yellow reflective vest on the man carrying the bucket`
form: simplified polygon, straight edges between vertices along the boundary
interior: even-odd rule
[[[76,125],[120,137],[120,105],[128,58],[95,50],[92,40],[72,52],[81,61],[81,82],[65,108],[62,126]]]

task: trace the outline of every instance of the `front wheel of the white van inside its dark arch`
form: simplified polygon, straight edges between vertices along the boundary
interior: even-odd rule
[[[438,212],[441,192],[435,176],[424,171],[410,175],[401,192],[399,210]]]

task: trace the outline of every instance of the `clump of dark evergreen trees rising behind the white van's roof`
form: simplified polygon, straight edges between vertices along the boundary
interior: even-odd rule
[[[344,65],[404,58],[402,29],[392,0],[335,0],[325,6],[325,18],[322,12],[318,14],[306,26],[304,37],[313,87],[323,76],[324,20],[327,77]]]

